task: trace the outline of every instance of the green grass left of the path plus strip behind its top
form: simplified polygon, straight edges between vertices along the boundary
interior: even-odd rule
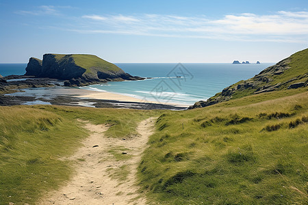
[[[73,164],[60,159],[73,154],[81,146],[81,139],[88,136],[77,119],[109,124],[106,137],[128,138],[136,135],[138,122],[158,113],[60,106],[0,107],[0,204],[34,204],[46,191],[70,179]]]

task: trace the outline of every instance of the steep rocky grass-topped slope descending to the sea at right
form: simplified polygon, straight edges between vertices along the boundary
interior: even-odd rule
[[[255,77],[246,81],[240,81],[222,92],[207,99],[198,101],[190,109],[207,107],[218,102],[235,98],[242,98],[263,92],[296,89],[308,85],[308,49],[294,53],[290,57],[279,61],[274,66],[262,70]]]

